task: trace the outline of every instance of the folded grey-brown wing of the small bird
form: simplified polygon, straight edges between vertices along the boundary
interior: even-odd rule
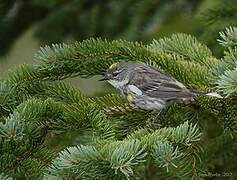
[[[129,85],[129,90],[135,94],[136,92],[139,94],[142,92],[144,95],[164,100],[182,99],[194,96],[182,83],[178,82],[170,75],[146,66],[136,67]]]

